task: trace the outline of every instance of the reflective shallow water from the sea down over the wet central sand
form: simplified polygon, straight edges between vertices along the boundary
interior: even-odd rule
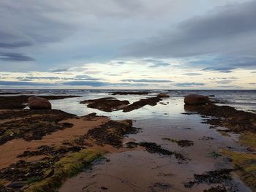
[[[57,92],[47,92],[47,94]],[[58,92],[60,93],[60,92]],[[200,115],[184,115],[184,95],[201,93],[216,95],[217,99],[226,101],[230,106],[239,110],[256,110],[255,91],[168,91],[170,98],[163,99],[156,106],[145,106],[132,112],[102,112],[80,104],[86,99],[98,99],[110,96],[105,91],[69,91],[63,92],[79,95],[78,98],[69,98],[50,101],[53,109],[63,110],[76,115],[87,115],[96,112],[111,119],[132,119],[133,125],[142,128],[138,134],[129,135],[135,142],[156,142],[167,150],[177,151],[191,159],[187,164],[178,164],[176,158],[151,154],[145,150],[134,150],[123,153],[106,155],[110,160],[96,162],[91,170],[86,170],[78,176],[67,180],[59,191],[203,191],[210,185],[200,184],[192,188],[185,188],[184,183],[193,180],[193,174],[232,168],[232,164],[225,157],[212,158],[209,153],[220,153],[222,149],[232,147],[236,150],[245,150],[238,145],[238,135],[230,134],[223,137],[216,129],[201,123]],[[157,95],[157,91],[149,96]],[[39,91],[37,95],[44,95]],[[113,96],[120,100],[138,101],[148,96]],[[188,139],[194,142],[190,147],[179,147],[176,143],[163,140]],[[203,137],[214,139],[203,140]],[[226,184],[233,191],[250,191],[236,174],[233,180]],[[211,185],[214,186],[214,185]]]

